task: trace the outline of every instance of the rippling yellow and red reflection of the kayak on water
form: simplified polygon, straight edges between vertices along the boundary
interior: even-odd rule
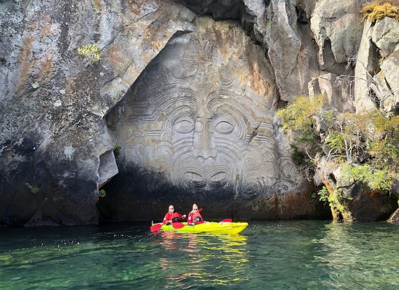
[[[174,287],[236,285],[249,278],[246,236],[162,232],[160,263]]]

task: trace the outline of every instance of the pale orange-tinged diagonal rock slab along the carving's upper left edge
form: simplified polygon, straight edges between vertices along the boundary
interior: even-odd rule
[[[154,9],[155,10],[155,9]],[[178,5],[163,4],[139,22],[119,31],[115,40],[103,49],[112,74],[100,89],[102,102],[90,110],[103,117],[129,89],[146,65],[162,50],[175,33],[193,31],[195,14]]]

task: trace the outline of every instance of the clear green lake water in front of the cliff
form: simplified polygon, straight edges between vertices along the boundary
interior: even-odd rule
[[[0,289],[398,289],[399,225],[250,222],[238,235],[149,223],[0,229]]]

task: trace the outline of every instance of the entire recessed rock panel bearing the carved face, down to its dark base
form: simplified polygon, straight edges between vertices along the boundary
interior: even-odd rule
[[[208,218],[306,215],[307,185],[275,138],[276,84],[261,47],[237,22],[198,17],[194,30],[172,37],[107,115],[121,153],[105,217],[149,220],[149,205],[169,203],[204,204]]]

